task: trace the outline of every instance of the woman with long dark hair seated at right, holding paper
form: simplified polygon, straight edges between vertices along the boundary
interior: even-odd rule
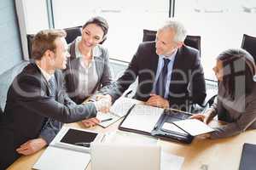
[[[218,55],[213,68],[218,79],[218,98],[206,114],[191,118],[211,122],[214,116],[227,122],[205,137],[218,139],[256,128],[256,82],[254,59],[243,49],[228,49]]]

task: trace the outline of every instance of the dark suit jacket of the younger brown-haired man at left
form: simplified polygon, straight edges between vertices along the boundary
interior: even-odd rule
[[[38,138],[49,118],[59,122],[78,122],[96,116],[94,104],[75,105],[68,98],[61,71],[55,71],[55,82],[55,96],[50,96],[48,82],[34,63],[15,77],[7,94],[0,125],[0,169],[19,157],[15,150],[20,144]]]

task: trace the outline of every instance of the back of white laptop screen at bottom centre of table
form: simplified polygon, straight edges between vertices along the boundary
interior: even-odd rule
[[[160,170],[160,146],[92,143],[91,170]]]

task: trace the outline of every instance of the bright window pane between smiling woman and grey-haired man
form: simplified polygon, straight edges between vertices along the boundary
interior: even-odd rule
[[[169,0],[55,0],[52,3],[55,28],[82,26],[96,15],[106,18],[109,32],[104,46],[110,58],[128,62],[143,40],[143,29],[156,30],[169,14]]]

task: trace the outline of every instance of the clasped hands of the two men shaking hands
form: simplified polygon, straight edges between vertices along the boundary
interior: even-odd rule
[[[107,113],[109,112],[110,106],[112,105],[112,97],[109,94],[97,96],[95,105],[97,111]]]

